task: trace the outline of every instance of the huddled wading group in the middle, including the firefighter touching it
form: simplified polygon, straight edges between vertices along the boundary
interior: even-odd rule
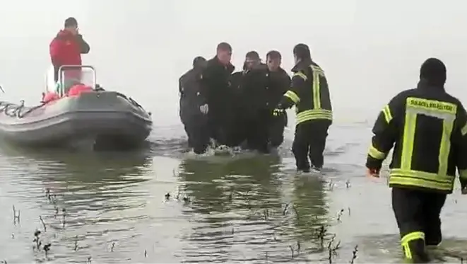
[[[266,54],[266,64],[258,52],[248,52],[242,71],[237,72],[230,62],[232,47],[226,42],[218,45],[212,59],[196,57],[193,69],[179,79],[180,117],[189,147],[203,154],[212,140],[218,146],[267,154],[283,143],[285,109],[295,105],[292,151],[297,169],[321,170],[332,122],[329,88],[307,45],[296,45],[293,54],[292,79],[280,67],[282,56],[276,50]]]

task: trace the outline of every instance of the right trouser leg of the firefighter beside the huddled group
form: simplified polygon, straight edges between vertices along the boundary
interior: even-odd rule
[[[314,120],[310,124],[310,147],[309,159],[316,168],[322,168],[324,164],[324,149],[326,148],[326,138],[331,125],[329,120]]]

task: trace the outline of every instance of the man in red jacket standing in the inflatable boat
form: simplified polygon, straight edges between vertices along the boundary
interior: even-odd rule
[[[76,18],[66,18],[64,29],[60,30],[50,42],[49,48],[55,81],[59,79],[58,71],[62,65],[81,65],[81,54],[87,54],[90,50],[88,43],[79,33]],[[81,69],[66,71],[66,77],[66,79],[81,79]]]

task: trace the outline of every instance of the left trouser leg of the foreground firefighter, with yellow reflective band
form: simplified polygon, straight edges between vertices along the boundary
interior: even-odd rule
[[[430,202],[426,193],[418,190],[392,188],[392,208],[401,234],[401,246],[406,259],[413,263],[429,261],[425,251],[425,211]]]

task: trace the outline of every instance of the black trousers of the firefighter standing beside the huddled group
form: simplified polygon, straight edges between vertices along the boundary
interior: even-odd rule
[[[330,120],[310,120],[295,127],[292,152],[298,171],[309,171],[310,159],[316,168],[322,168],[324,163],[324,148],[326,137],[331,125]]]

